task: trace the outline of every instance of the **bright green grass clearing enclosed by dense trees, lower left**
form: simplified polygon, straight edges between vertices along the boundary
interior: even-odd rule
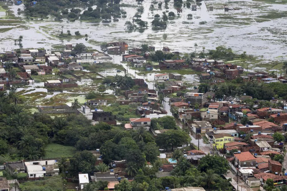
[[[45,158],[60,158],[61,156],[71,157],[75,151],[75,147],[50,143],[46,146]]]

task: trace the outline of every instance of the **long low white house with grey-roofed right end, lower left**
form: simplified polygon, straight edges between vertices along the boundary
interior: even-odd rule
[[[45,176],[59,175],[59,168],[55,160],[41,160],[25,162],[28,179],[36,180]]]

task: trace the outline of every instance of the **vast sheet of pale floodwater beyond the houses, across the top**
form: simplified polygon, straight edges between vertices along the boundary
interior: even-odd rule
[[[123,0],[123,3],[134,7],[122,7],[127,12],[126,18],[121,18],[119,22],[110,23],[95,23],[82,21],[29,21],[26,25],[28,29],[12,29],[5,33],[1,33],[1,38],[5,39],[0,43],[1,47],[6,49],[18,48],[14,45],[14,38],[23,36],[24,47],[44,47],[55,44],[69,43],[84,43],[86,46],[96,48],[101,42],[109,41],[125,41],[129,47],[139,46],[143,43],[154,45],[156,50],[163,46],[168,46],[172,51],[193,52],[194,43],[198,44],[197,51],[202,51],[202,47],[206,47],[206,51],[214,49],[217,46],[225,45],[232,48],[236,52],[246,51],[247,54],[264,55],[265,58],[272,59],[277,56],[284,56],[287,47],[284,46],[286,33],[285,25],[287,20],[278,19],[261,19],[257,22],[257,16],[266,14],[268,11],[286,11],[284,5],[279,4],[264,4],[262,2],[252,2],[251,0],[236,2],[226,1],[224,3],[231,7],[238,7],[240,10],[232,10],[224,12],[222,9],[223,2],[219,0],[202,1],[202,5],[197,6],[197,11],[183,8],[183,12],[177,17],[177,11],[173,7],[173,1],[168,3],[169,9],[165,9],[164,2],[162,9],[158,9],[158,5],[154,4],[155,9],[149,10],[152,0],[143,2],[144,12],[141,14],[141,19],[148,21],[148,28],[143,31],[128,32],[125,30],[125,22],[131,21],[131,18],[137,13],[139,5],[132,0]],[[160,1],[158,1],[160,2]],[[221,3],[221,4],[220,4]],[[214,9],[209,11],[209,5]],[[255,8],[255,5],[266,6]],[[17,9],[23,9],[23,5],[11,5],[11,10],[17,15]],[[94,6],[95,8],[95,6]],[[174,20],[169,20],[166,30],[153,31],[151,21],[155,14],[162,15],[163,11],[173,11],[176,14]],[[168,13],[166,13],[168,14]],[[192,14],[193,19],[188,20],[187,15]],[[243,20],[218,19],[218,14],[223,16],[235,16]],[[221,16],[222,16],[221,15]],[[20,15],[23,16],[23,15]],[[247,21],[248,20],[248,21]],[[263,21],[264,22],[263,22]],[[206,24],[200,25],[200,21],[207,21]],[[88,41],[82,39],[59,40],[52,35],[59,34],[61,26],[64,26],[63,31],[70,30],[72,34],[79,30],[81,34],[88,34]],[[41,28],[48,27],[48,29]],[[167,35],[166,40],[163,39],[163,34]],[[116,62],[115,62],[116,63]]]

